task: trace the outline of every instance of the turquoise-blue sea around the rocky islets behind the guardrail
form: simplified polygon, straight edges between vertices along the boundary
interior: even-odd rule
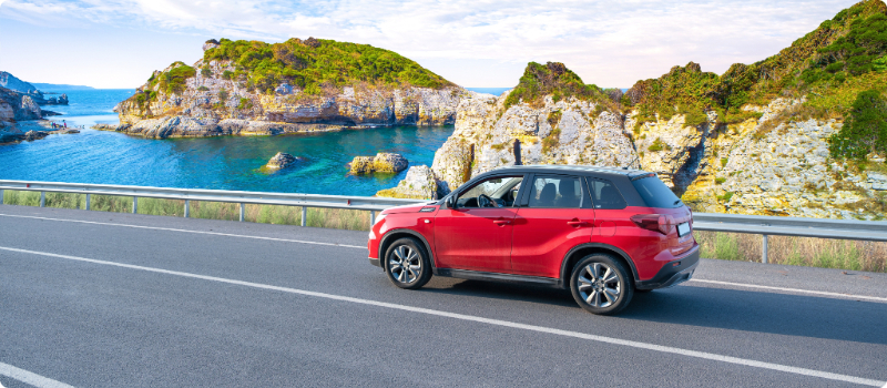
[[[509,88],[469,89],[498,95]],[[134,90],[43,92],[68,94],[69,105],[42,108],[61,113],[48,119],[80,127],[81,133],[0,145],[0,180],[369,196],[396,186],[407,172],[350,175],[346,164],[355,156],[394,152],[410,165],[430,166],[453,131],[452,125],[401,125],[310,135],[152,140],[90,129],[119,123],[113,108]],[[277,152],[304,160],[263,172]]]

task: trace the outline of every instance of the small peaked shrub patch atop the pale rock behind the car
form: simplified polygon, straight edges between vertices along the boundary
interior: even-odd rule
[[[504,106],[519,103],[521,100],[529,104],[538,105],[546,95],[551,95],[554,102],[569,96],[580,100],[610,101],[603,91],[593,84],[584,84],[563,63],[548,62],[544,65],[537,62],[527,64],[518,85],[506,98]]]

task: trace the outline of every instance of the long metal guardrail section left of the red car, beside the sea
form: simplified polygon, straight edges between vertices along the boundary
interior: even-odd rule
[[[191,201],[205,202],[226,202],[238,203],[241,205],[241,221],[244,219],[245,204],[261,205],[283,205],[302,206],[302,226],[305,226],[308,207],[326,208],[350,208],[356,211],[368,211],[370,224],[375,223],[376,212],[388,207],[421,203],[421,200],[400,200],[370,196],[345,196],[345,195],[320,195],[320,194],[288,194],[288,193],[263,193],[263,192],[241,192],[226,190],[202,190],[202,188],[169,188],[149,186],[124,186],[105,184],[84,184],[84,183],[60,183],[60,182],[30,182],[30,181],[2,181],[0,180],[0,204],[3,202],[3,190],[17,190],[40,192],[40,207],[45,206],[45,194],[50,193],[74,193],[85,194],[85,210],[90,210],[92,195],[116,195],[132,197],[132,212],[139,212],[139,198],[163,198],[163,200],[184,200],[184,216],[190,216]]]

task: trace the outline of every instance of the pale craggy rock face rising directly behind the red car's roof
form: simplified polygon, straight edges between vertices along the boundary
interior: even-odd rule
[[[621,114],[573,98],[533,108],[504,109],[499,98],[471,92],[459,103],[456,131],[435,154],[432,171],[457,187],[471,176],[502,165],[636,165]]]

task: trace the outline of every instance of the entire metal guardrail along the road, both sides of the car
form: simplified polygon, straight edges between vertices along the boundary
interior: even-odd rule
[[[191,201],[226,202],[241,204],[241,221],[245,204],[302,206],[302,226],[305,226],[308,207],[351,208],[370,212],[370,224],[375,223],[376,212],[388,207],[421,203],[421,200],[399,200],[368,196],[318,195],[241,192],[225,190],[166,188],[124,185],[103,185],[83,183],[29,182],[0,180],[0,204],[3,190],[40,192],[40,206],[45,205],[45,193],[86,194],[86,210],[90,196],[131,196],[132,212],[139,211],[139,198],[184,200],[184,216],[188,216]],[[693,228],[704,232],[746,233],[763,235],[762,262],[767,263],[767,236],[796,236],[815,238],[859,239],[887,242],[887,222],[825,219],[801,217],[774,217],[759,215],[694,213]]]

